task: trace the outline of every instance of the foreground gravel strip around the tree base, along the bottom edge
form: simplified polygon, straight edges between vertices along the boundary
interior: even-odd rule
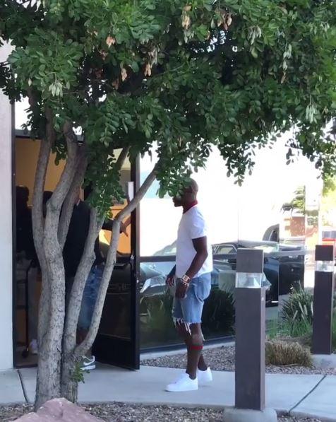
[[[122,403],[83,406],[90,414],[106,422],[222,422],[222,411],[184,409],[168,406],[136,406]],[[32,406],[0,406],[0,421],[15,421],[32,411]],[[280,422],[320,422],[311,418],[278,418]]]

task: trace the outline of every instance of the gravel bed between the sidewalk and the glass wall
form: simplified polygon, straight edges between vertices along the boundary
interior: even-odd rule
[[[203,351],[205,361],[212,370],[234,371],[234,346],[222,346],[216,348],[207,348]],[[160,358],[148,359],[141,362],[147,366],[161,366],[164,368],[186,368],[185,355],[162,356]],[[335,369],[305,368],[303,366],[275,366],[269,365],[266,368],[267,373],[282,374],[323,374],[336,375]]]

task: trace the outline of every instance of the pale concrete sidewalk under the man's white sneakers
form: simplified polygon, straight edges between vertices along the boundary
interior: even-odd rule
[[[234,405],[234,373],[214,371],[212,385],[201,387],[196,392],[164,392],[164,386],[174,380],[180,372],[178,369],[147,366],[133,372],[109,365],[98,365],[96,370],[85,375],[85,384],[80,384],[79,401],[167,404],[217,409]],[[34,368],[0,373],[0,404],[33,402],[35,373]],[[279,414],[336,421],[336,376],[267,375],[266,392],[267,406]]]

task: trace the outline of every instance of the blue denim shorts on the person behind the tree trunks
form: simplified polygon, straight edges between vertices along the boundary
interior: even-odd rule
[[[78,318],[78,329],[84,329],[87,331],[90,328],[100,287],[100,281],[102,281],[103,271],[104,265],[92,266],[88,279],[85,283],[83,300],[82,305],[80,306],[80,314]]]

